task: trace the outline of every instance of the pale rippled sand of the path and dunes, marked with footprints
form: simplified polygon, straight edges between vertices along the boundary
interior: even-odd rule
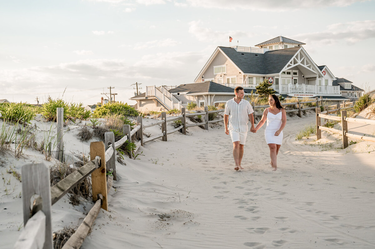
[[[295,140],[308,124],[315,124],[314,114],[288,117],[277,171],[269,164],[265,125],[249,133],[240,171],[222,125],[145,143],[140,160],[117,163],[109,211],[99,213],[82,248],[375,248],[375,143],[350,139],[358,143],[340,149],[341,137],[324,131],[318,142]],[[359,126],[375,131],[352,128],[361,132]],[[65,134],[67,150],[88,155],[89,142],[81,143],[77,130]],[[5,171],[39,157],[1,156],[0,170],[11,180],[4,188],[15,187],[0,196],[0,248],[12,248],[23,222],[21,184]],[[77,226],[92,206],[72,206],[64,197],[52,206],[52,230]]]

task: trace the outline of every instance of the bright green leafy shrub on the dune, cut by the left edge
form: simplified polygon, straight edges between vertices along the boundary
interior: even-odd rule
[[[36,113],[26,103],[6,103],[0,105],[0,113],[3,120],[19,124],[30,124]]]

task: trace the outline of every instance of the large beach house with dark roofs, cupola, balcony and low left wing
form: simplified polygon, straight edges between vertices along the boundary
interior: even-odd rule
[[[342,101],[360,97],[363,89],[336,78],[327,66],[317,66],[302,45],[305,43],[278,36],[255,48],[218,46],[196,76],[195,84],[147,86],[145,93],[130,99],[137,101],[139,110],[180,108],[191,101],[212,105],[232,98],[236,86],[243,86],[247,93],[256,92],[255,86],[265,79],[272,82],[276,94],[287,98],[321,96],[328,101]],[[202,84],[202,89],[197,84]]]

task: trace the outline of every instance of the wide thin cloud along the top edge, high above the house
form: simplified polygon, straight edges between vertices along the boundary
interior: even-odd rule
[[[175,6],[191,6],[206,9],[249,9],[262,11],[293,11],[306,8],[321,8],[324,7],[346,7],[353,3],[364,2],[367,0],[263,0],[263,1],[248,1],[248,0],[185,0],[174,1]]]

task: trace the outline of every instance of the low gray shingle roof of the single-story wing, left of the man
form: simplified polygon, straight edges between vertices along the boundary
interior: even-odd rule
[[[198,94],[202,92],[234,92],[234,88],[217,84],[213,81],[205,81],[192,84],[182,84],[176,88],[170,89],[169,92],[187,92],[187,94]]]

